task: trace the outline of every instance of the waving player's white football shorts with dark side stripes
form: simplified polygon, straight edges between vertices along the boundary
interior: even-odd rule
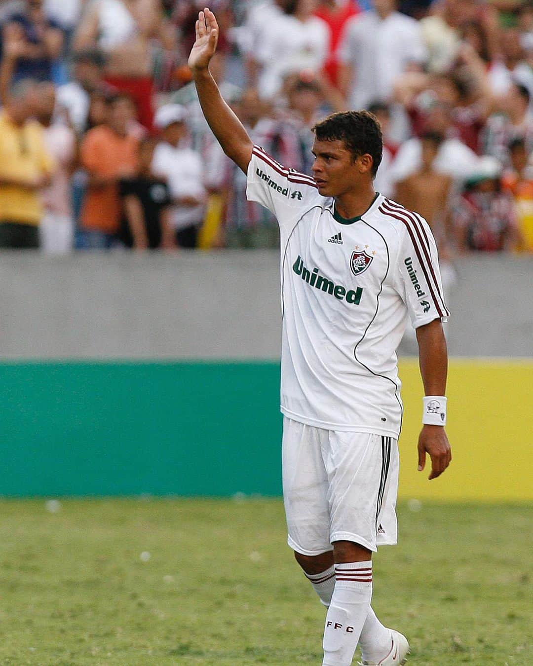
[[[398,536],[398,442],[306,426],[286,416],[282,441],[288,545],[302,555],[354,541],[376,551]]]

